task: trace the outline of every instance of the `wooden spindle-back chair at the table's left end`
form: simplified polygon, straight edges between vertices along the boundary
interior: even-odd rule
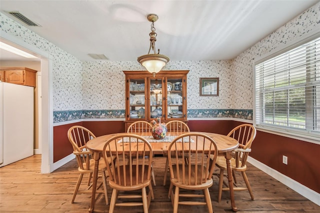
[[[75,196],[79,191],[79,186],[82,181],[83,174],[89,174],[87,185],[88,187],[85,190],[81,190],[81,192],[91,193],[89,190],[92,186],[91,177],[92,172],[94,170],[94,159],[92,158],[92,153],[86,149],[86,142],[91,138],[94,138],[95,135],[87,128],[79,125],[74,125],[69,128],[68,132],[68,139],[73,147],[73,154],[75,154],[76,161],[78,163],[78,171],[80,175],[76,182],[76,186],[73,192],[73,197],[71,203],[74,202]],[[98,193],[103,193],[105,198],[105,203],[108,204],[108,195],[107,195],[107,185],[106,185],[106,165],[104,160],[101,159],[99,161],[99,171],[101,172],[102,182],[97,187],[98,189],[103,185],[103,190],[97,190]]]

